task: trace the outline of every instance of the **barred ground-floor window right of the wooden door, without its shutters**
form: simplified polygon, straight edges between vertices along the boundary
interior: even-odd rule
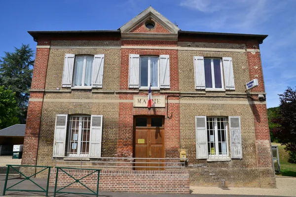
[[[209,158],[228,157],[227,118],[207,117]]]

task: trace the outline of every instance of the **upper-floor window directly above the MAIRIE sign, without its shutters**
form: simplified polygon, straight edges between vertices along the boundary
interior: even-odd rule
[[[159,87],[158,75],[158,57],[141,57],[140,58],[140,86],[141,88]]]

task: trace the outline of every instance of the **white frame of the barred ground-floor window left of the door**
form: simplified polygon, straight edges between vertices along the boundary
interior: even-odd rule
[[[78,126],[78,136],[77,136],[77,153],[70,153],[71,151],[71,129],[72,129],[72,118],[73,117],[79,117],[79,126]],[[73,115],[69,117],[68,123],[69,124],[69,128],[68,128],[68,145],[67,145],[67,157],[89,157],[90,155],[90,136],[89,136],[89,147],[88,147],[88,153],[84,154],[81,153],[81,137],[82,137],[82,122],[83,122],[83,117],[88,117],[90,118],[90,122],[89,122],[89,135],[91,134],[91,116],[90,115]]]

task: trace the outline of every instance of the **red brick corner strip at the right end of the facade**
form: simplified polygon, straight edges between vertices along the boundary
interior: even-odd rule
[[[247,48],[258,50],[259,44],[248,43]],[[259,84],[259,86],[252,89],[251,92],[265,92],[260,52],[248,52],[247,57],[250,80],[258,79]],[[256,96],[253,96],[252,98],[254,101],[258,100],[258,97]],[[263,188],[275,187],[266,104],[254,104],[253,114],[256,131],[260,186]]]

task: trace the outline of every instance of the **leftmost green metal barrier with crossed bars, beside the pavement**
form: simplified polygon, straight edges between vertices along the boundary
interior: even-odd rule
[[[36,172],[35,174],[31,175],[31,176],[26,176],[24,173],[20,172],[19,169],[16,169],[15,167],[13,166],[17,166],[17,167],[42,167],[44,169],[41,169],[39,170],[38,172]],[[8,174],[9,174],[9,168],[12,168],[14,169],[15,171],[17,171],[18,173],[20,173],[22,176],[24,176],[25,178],[23,180],[21,180],[20,182],[10,186],[9,188],[6,188],[7,187],[7,179],[8,179]],[[18,192],[43,192],[45,193],[45,196],[47,197],[48,195],[48,184],[49,184],[49,175],[50,175],[50,168],[51,166],[41,166],[41,165],[11,165],[11,164],[8,164],[7,165],[7,171],[6,171],[6,178],[5,178],[5,183],[4,183],[4,189],[3,189],[3,196],[5,195],[5,192],[6,191],[18,191]],[[44,171],[48,169],[48,175],[47,175],[47,183],[46,183],[46,189],[42,188],[41,186],[39,186],[37,183],[35,183],[31,178],[34,177],[36,174]],[[41,190],[23,190],[23,189],[10,189],[26,180],[29,180],[31,181],[32,183],[34,183],[35,185],[37,185]]]

